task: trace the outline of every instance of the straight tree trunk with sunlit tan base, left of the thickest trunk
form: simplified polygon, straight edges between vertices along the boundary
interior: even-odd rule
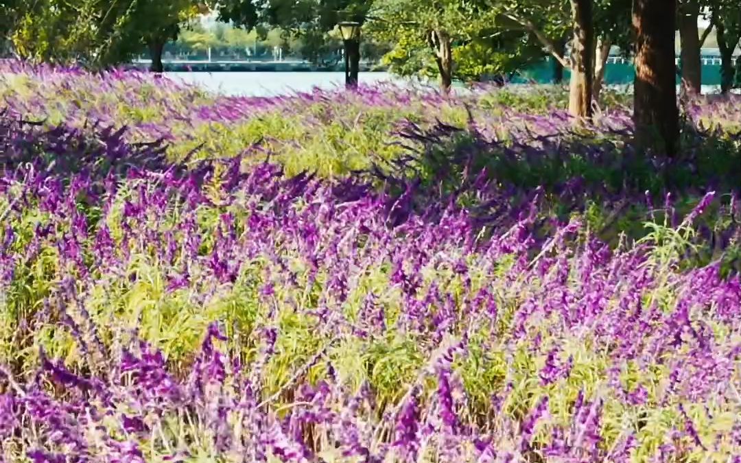
[[[574,19],[574,39],[571,42],[571,86],[568,112],[577,118],[592,115],[592,80],[594,68],[594,27],[592,26],[592,0],[571,0]]]

